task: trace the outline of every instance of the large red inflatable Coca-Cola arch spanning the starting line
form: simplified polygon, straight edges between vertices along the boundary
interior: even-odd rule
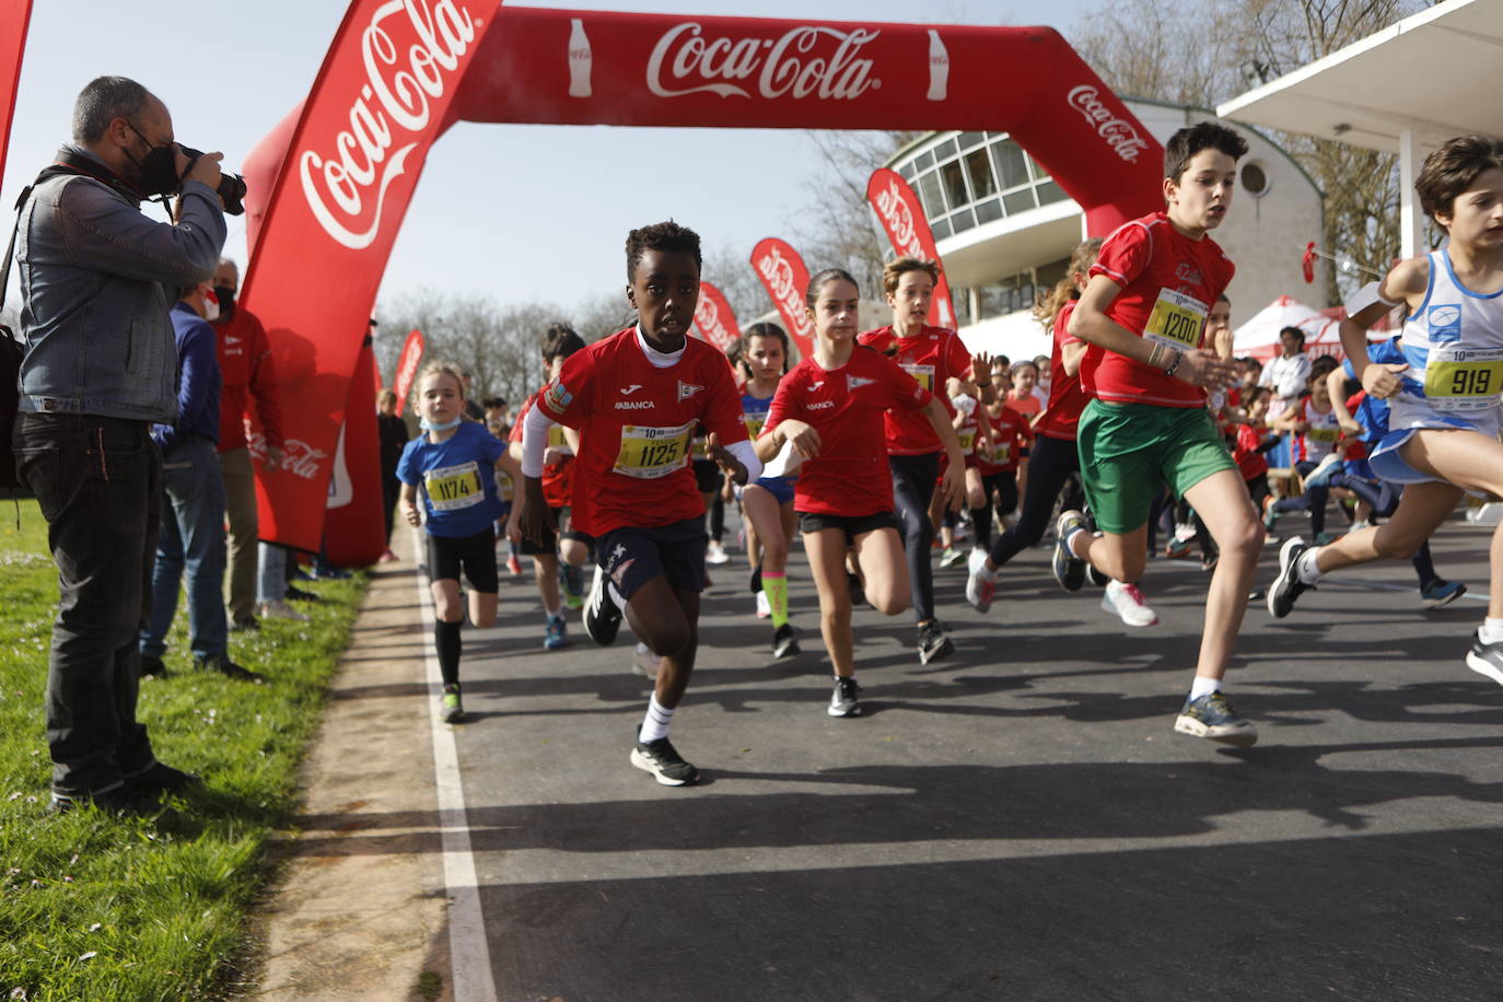
[[[1060,182],[1091,233],[1160,204],[1159,144],[1051,29],[355,0],[308,101],[245,165],[243,302],[289,397],[292,463],[259,470],[272,541],[319,545],[367,311],[427,149],[460,120],[989,129]],[[376,448],[350,437],[346,455]],[[380,553],[379,499],[377,484],[356,485],[331,509],[335,560]]]

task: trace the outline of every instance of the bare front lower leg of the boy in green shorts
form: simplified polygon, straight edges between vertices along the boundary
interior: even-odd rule
[[[1195,665],[1196,678],[1219,679],[1226,673],[1243,613],[1247,611],[1247,590],[1258,569],[1264,532],[1235,469],[1211,473],[1184,496],[1205,521],[1220,551],[1205,595],[1205,625]]]

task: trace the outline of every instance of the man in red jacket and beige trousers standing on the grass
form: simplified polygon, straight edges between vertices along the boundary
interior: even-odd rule
[[[210,323],[219,335],[219,376],[224,380],[219,394],[219,472],[224,475],[224,508],[230,526],[225,572],[230,583],[230,623],[233,629],[256,629],[260,521],[256,512],[256,470],[245,440],[245,415],[251,401],[256,401],[256,416],[266,442],[262,463],[268,470],[281,466],[283,430],[272,346],[260,318],[234,302],[239,290],[240,269],[230,258],[219,258],[213,272],[219,317]],[[389,520],[391,515],[388,523]]]

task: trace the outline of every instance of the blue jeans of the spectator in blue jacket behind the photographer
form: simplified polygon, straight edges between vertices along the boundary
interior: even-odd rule
[[[213,442],[174,445],[162,457],[162,533],[152,574],[152,614],[141,629],[141,653],[167,650],[177,614],[177,589],[188,574],[188,641],[200,658],[221,658],[228,647],[224,614],[224,475]]]

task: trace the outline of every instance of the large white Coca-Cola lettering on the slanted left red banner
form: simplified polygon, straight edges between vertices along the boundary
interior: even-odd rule
[[[350,128],[328,146],[311,141],[298,155],[308,209],[338,243],[359,251],[376,240],[386,189],[427,138],[431,102],[443,96],[473,41],[475,18],[455,0],[431,6],[428,0],[389,0],[371,14],[361,32],[365,80],[350,102]],[[416,138],[397,146],[401,134]]]

